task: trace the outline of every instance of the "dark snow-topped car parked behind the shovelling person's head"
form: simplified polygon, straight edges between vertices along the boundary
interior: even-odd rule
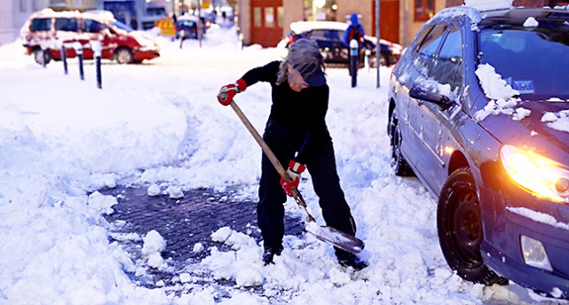
[[[277,49],[282,51],[282,56],[286,56],[288,45],[295,42],[300,38],[310,38],[316,40],[324,62],[328,64],[342,64],[347,65],[350,62],[350,50],[344,44],[344,32],[348,28],[348,24],[336,21],[297,21],[290,23],[291,31],[285,36],[280,43],[277,44]],[[377,39],[372,36],[366,35],[364,37],[364,45],[361,48],[360,64],[363,64],[364,51],[368,51],[369,64],[375,66],[375,45]],[[381,40],[381,62],[383,66],[394,65],[403,48],[397,43],[391,43],[386,40]]]

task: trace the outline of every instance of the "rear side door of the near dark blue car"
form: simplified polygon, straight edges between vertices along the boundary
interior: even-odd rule
[[[413,59],[412,65],[417,71],[417,76],[411,87],[419,87],[426,91],[435,91],[438,84],[433,79],[436,70],[439,49],[447,34],[447,24],[435,25],[429,35],[427,35]],[[415,174],[423,180],[425,184],[435,190],[433,179],[439,176],[442,162],[439,153],[435,149],[439,140],[440,122],[433,115],[433,105],[423,99],[409,97],[408,120],[411,129],[409,137],[415,155]]]

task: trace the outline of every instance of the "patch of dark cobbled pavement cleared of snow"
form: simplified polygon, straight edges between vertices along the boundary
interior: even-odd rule
[[[243,199],[238,196],[239,186],[228,187],[226,192],[215,192],[212,189],[197,189],[184,192],[184,198],[170,199],[168,195],[151,197],[147,194],[147,186],[117,186],[114,189],[99,192],[115,196],[118,204],[113,206],[115,213],[106,215],[109,223],[114,225],[115,233],[137,233],[141,238],[148,231],[158,231],[166,239],[166,249],[162,258],[173,266],[171,272],[149,269],[152,278],[136,278],[141,285],[154,286],[162,279],[169,285],[170,279],[181,270],[188,270],[188,265],[200,262],[209,255],[209,247],[217,246],[220,251],[228,251],[228,247],[210,238],[212,232],[222,227],[230,227],[234,231],[248,234],[257,243],[261,241],[257,229],[257,198]],[[122,222],[121,222],[122,221]],[[285,234],[299,235],[304,231],[302,219],[285,216]],[[111,239],[111,241],[115,241]],[[120,241],[119,243],[132,255],[133,261],[140,258],[143,242]],[[196,243],[202,243],[205,250],[194,253]],[[218,283],[219,284],[219,283]],[[221,283],[233,285],[233,283]]]

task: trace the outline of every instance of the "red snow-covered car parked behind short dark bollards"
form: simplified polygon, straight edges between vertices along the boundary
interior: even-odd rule
[[[20,29],[20,37],[28,54],[39,64],[43,60],[46,63],[51,59],[60,60],[62,45],[66,47],[67,58],[74,58],[74,43],[83,45],[83,59],[93,59],[91,41],[100,41],[102,59],[115,59],[119,64],[139,63],[160,56],[152,37],[115,20],[110,12],[54,12],[44,9],[29,17]]]

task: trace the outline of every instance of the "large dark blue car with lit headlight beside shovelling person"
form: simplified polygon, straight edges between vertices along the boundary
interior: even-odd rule
[[[567,24],[565,8],[447,8],[391,74],[392,168],[438,200],[466,280],[569,297]]]

